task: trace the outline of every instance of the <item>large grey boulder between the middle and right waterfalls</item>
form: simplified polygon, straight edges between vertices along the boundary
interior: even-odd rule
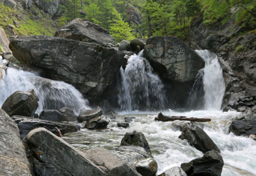
[[[179,37],[150,37],[144,50],[144,56],[152,67],[161,63],[167,69],[167,75],[173,81],[194,81],[197,72],[205,62]],[[154,70],[158,68],[154,68]]]

